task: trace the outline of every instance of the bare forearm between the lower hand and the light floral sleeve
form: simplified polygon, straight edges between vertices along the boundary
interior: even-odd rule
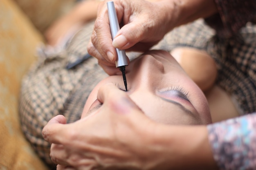
[[[154,132],[153,148],[159,149],[158,157],[162,158],[158,170],[218,169],[206,126],[159,126]]]

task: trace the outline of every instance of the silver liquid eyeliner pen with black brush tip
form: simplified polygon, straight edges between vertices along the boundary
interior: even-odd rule
[[[107,6],[108,6],[108,19],[110,23],[110,31],[111,31],[112,40],[113,40],[117,35],[117,32],[119,31],[120,27],[117,20],[117,12],[115,9],[114,2],[113,1],[107,2]],[[126,53],[124,50],[116,49],[116,51],[117,51],[116,67],[118,67],[122,72],[123,79],[124,79],[124,86],[127,91],[125,66],[128,66],[128,61],[127,61]]]

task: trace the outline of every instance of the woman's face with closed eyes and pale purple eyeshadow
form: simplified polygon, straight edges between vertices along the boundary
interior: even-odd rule
[[[169,53],[150,51],[141,55],[126,67],[126,79],[126,93],[151,119],[164,124],[211,123],[204,94]],[[95,110],[98,90],[106,83],[125,89],[122,75],[103,79],[88,97],[82,117]]]

